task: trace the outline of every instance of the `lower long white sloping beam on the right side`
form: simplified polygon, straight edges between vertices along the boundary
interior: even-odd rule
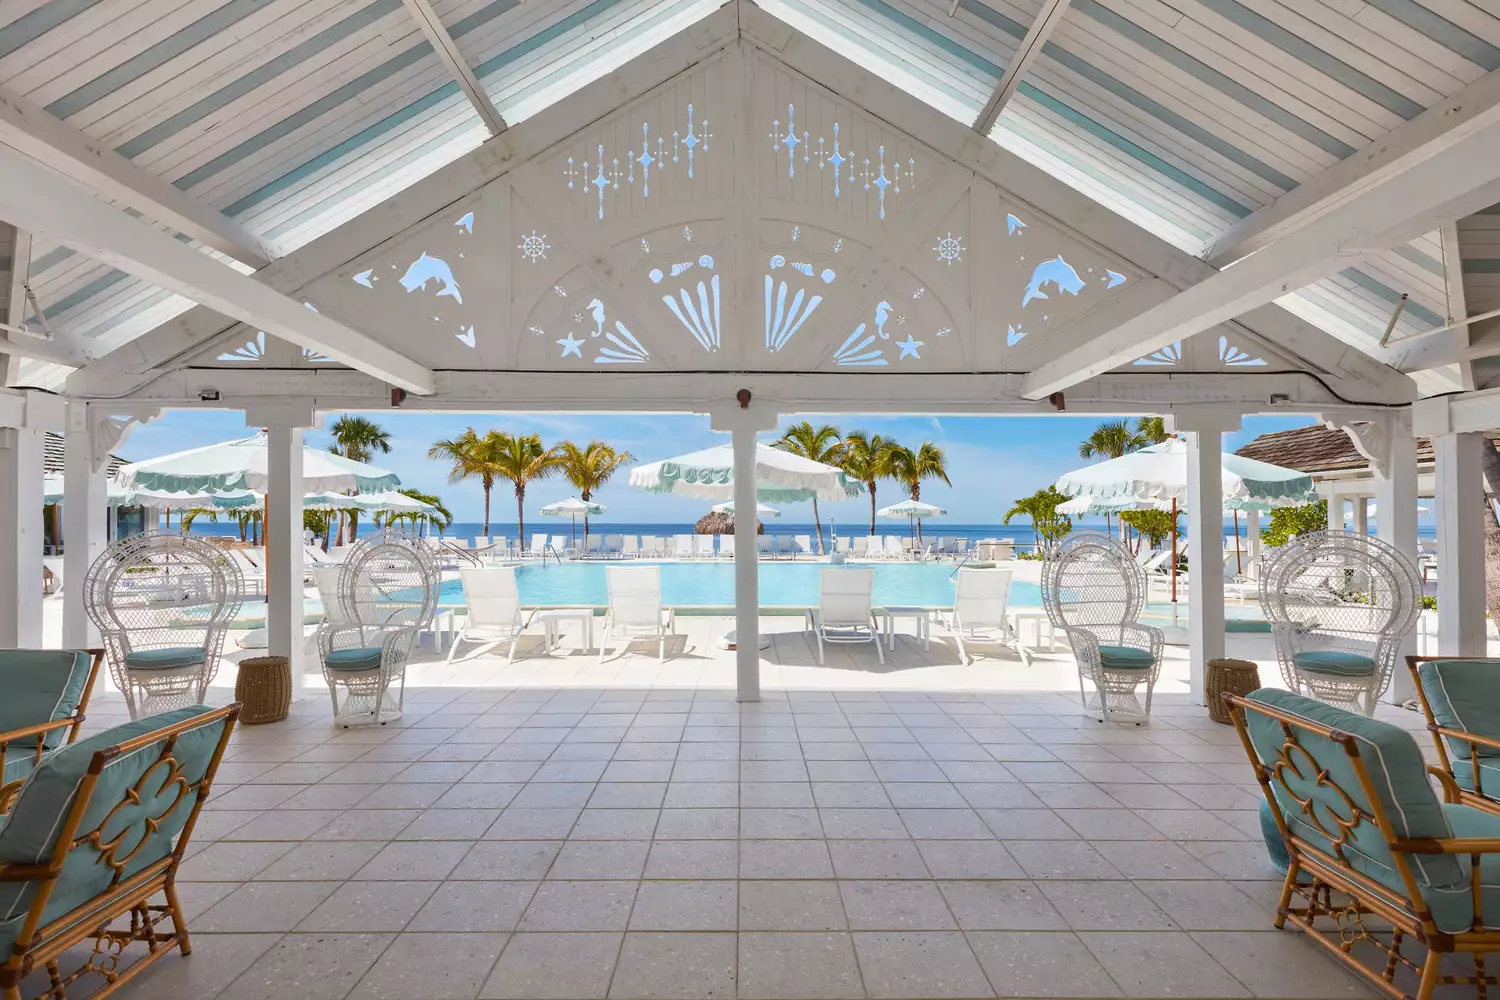
[[[1026,394],[1040,399],[1128,364],[1500,201],[1500,105],[1494,114],[1464,117],[1454,132],[1406,157],[1402,169],[1340,189],[1233,267],[1158,306],[1116,316],[1090,343],[1050,351],[1028,376]]]

